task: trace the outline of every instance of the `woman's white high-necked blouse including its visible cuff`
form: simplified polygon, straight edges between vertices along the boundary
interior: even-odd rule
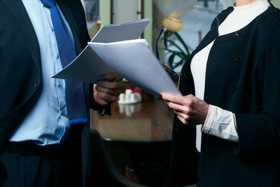
[[[234,10],[218,27],[219,36],[236,32],[248,25],[258,15],[269,7],[267,0],[258,0],[245,6],[234,6]],[[195,96],[204,99],[205,74],[207,60],[214,41],[197,53],[190,64],[195,83]],[[222,139],[238,142],[237,125],[235,114],[223,110],[218,106],[210,105],[204,125],[197,125],[196,147],[201,151],[202,132],[212,134]]]

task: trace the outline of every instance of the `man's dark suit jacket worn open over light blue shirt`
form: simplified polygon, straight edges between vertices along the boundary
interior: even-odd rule
[[[79,54],[90,41],[80,0],[57,0]],[[41,57],[36,34],[21,0],[0,0],[0,153],[41,93]],[[87,116],[92,85],[84,84]],[[90,89],[91,88],[91,89]],[[89,117],[88,117],[89,118]],[[88,119],[88,121],[90,121]],[[83,127],[83,182],[87,172],[90,123]],[[1,172],[1,169],[0,169]],[[1,175],[1,173],[0,173]]]

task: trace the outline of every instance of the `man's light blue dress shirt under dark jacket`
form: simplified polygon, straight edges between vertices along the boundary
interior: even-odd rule
[[[34,141],[41,146],[59,144],[63,134],[69,129],[69,119],[65,101],[65,81],[50,78],[62,69],[50,10],[43,7],[40,0],[22,0],[22,3],[40,46],[43,90],[35,106],[10,141]],[[71,29],[59,7],[58,10],[74,42]]]

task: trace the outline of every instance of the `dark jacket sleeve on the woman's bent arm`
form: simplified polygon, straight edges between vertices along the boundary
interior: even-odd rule
[[[262,64],[262,112],[235,114],[240,154],[276,152],[280,148],[280,19],[270,31]]]

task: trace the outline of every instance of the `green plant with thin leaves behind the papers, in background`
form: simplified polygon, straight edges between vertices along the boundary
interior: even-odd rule
[[[172,35],[175,37],[172,38]],[[169,55],[167,64],[172,69],[183,65],[190,56],[190,50],[178,32],[166,30],[163,36],[163,43],[165,50],[167,50],[167,55]]]

